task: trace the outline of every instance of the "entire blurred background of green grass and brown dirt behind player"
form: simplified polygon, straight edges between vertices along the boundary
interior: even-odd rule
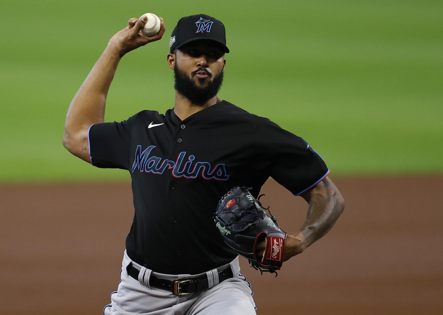
[[[122,58],[105,121],[173,107],[169,36],[205,13],[231,51],[219,97],[302,136],[345,196],[277,279],[246,271],[257,314],[441,314],[443,3],[393,0],[1,0],[0,312],[100,314],[117,289],[130,177],[70,155],[62,134],[108,40],[146,12],[166,33]],[[306,204],[272,179],[262,191],[295,232]]]

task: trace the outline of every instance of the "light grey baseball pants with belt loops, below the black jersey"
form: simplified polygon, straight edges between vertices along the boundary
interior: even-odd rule
[[[139,279],[128,276],[126,268],[133,264],[140,269]],[[218,283],[218,270],[232,269],[233,278]],[[166,275],[140,266],[124,252],[120,283],[111,293],[111,303],[103,309],[104,315],[255,315],[255,303],[250,284],[240,274],[238,257],[229,264],[198,275]],[[176,296],[172,292],[149,285],[153,275],[167,280],[206,275],[209,288],[202,293]]]

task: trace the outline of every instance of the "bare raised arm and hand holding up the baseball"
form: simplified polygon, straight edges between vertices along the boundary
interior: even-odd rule
[[[63,134],[63,145],[74,156],[90,163],[88,129],[92,124],[104,122],[106,96],[118,63],[129,51],[162,38],[165,27],[163,19],[160,20],[159,33],[147,37],[140,32],[146,17],[143,16],[140,20],[130,19],[128,26],[109,40],[105,51],[78,89],[69,106]]]

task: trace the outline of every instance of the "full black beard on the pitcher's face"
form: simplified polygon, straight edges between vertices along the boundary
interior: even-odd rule
[[[201,70],[205,69],[200,68],[194,71],[192,74]],[[208,86],[201,88],[198,87],[195,84],[195,82],[187,76],[186,73],[180,70],[177,64],[175,64],[174,79],[175,79],[174,88],[177,92],[186,97],[191,103],[196,105],[203,105],[210,98],[216,96],[218,91],[220,90],[221,84],[223,83],[223,71],[221,71],[220,74],[214,76],[214,79],[208,83]],[[206,79],[198,79],[198,80],[203,81]]]

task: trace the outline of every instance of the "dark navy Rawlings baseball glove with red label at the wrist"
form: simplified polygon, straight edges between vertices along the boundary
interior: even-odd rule
[[[286,232],[277,225],[276,218],[269,216],[259,199],[246,187],[233,187],[218,202],[214,214],[215,225],[227,245],[245,257],[253,268],[276,273],[283,264]],[[258,255],[256,246],[265,241],[263,255]],[[277,275],[276,275],[277,276]]]

